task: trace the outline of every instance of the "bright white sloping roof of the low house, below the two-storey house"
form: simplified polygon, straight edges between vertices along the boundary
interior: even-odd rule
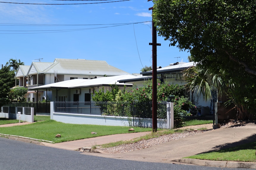
[[[82,88],[82,87],[94,87],[94,86],[106,86],[106,85],[132,85],[127,83],[119,83],[118,80],[128,79],[136,77],[133,75],[119,75],[119,76],[111,76],[111,77],[102,77],[95,79],[73,79],[62,82],[56,82],[48,85],[42,85],[35,88],[31,88],[30,90],[42,90],[42,89],[54,89],[54,88]]]

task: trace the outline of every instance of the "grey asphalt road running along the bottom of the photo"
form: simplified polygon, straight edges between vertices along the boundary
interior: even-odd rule
[[[0,137],[0,148],[0,170],[234,170],[229,168],[103,158],[84,155],[78,151],[51,148],[3,137]]]

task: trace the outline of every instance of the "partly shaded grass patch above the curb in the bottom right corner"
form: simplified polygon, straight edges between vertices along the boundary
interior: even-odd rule
[[[256,162],[255,160],[256,142],[247,143],[233,148],[222,149],[214,152],[201,153],[185,158],[203,159],[211,161],[241,161]]]

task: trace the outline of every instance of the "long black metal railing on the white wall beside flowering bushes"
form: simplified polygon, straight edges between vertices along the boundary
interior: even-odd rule
[[[157,119],[167,121],[167,102],[157,104]],[[54,102],[54,112],[124,116],[133,118],[133,126],[152,127],[152,102]],[[162,121],[162,122],[161,122]]]

